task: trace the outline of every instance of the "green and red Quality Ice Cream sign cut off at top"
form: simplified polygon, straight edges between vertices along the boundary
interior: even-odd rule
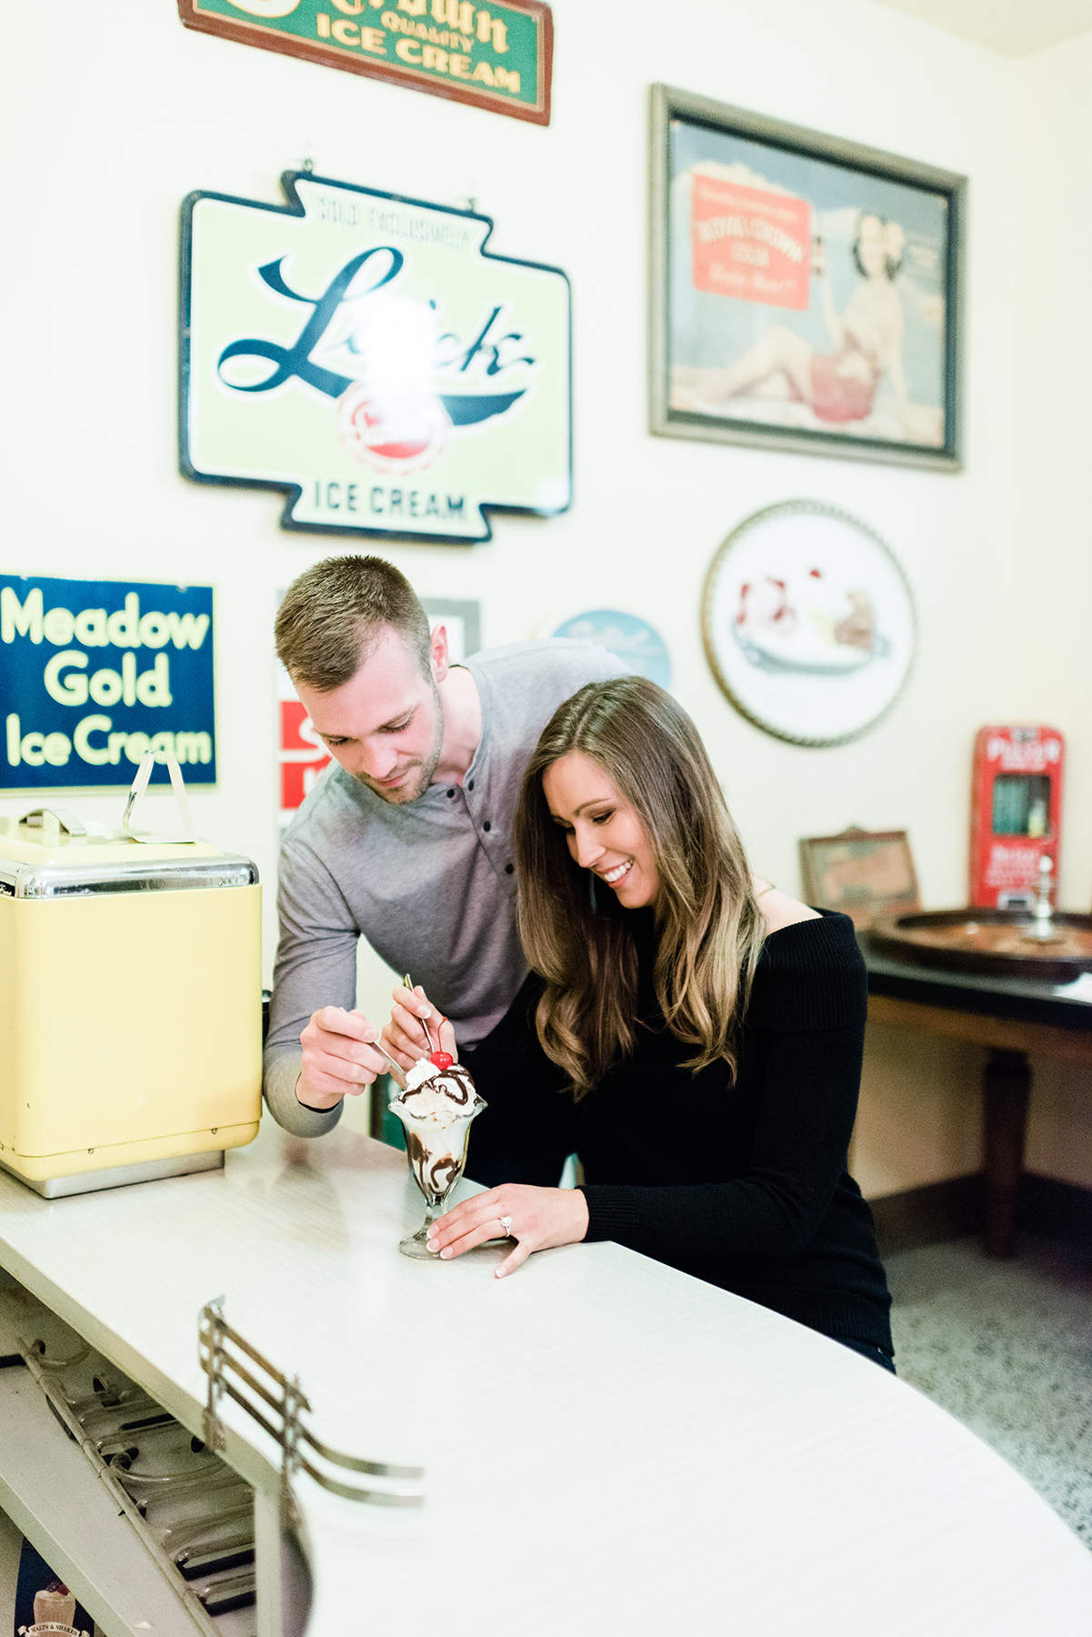
[[[544,0],[178,0],[187,28],[550,123]]]

